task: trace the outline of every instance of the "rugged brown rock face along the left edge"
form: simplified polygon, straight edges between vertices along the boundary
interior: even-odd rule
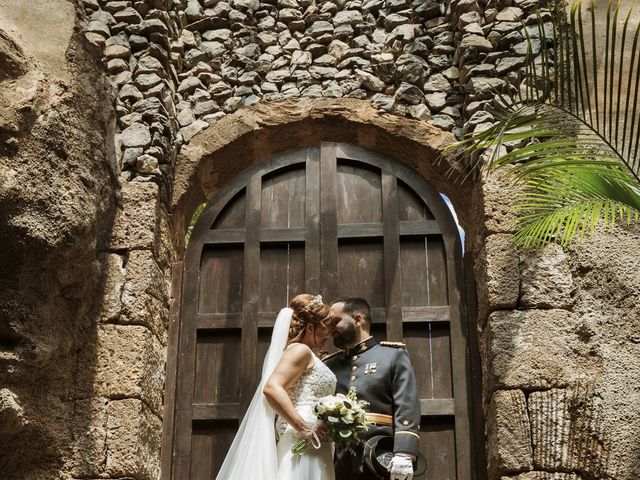
[[[44,26],[47,28],[44,28]],[[0,5],[0,476],[68,473],[93,428],[116,205],[109,85],[64,0]]]

